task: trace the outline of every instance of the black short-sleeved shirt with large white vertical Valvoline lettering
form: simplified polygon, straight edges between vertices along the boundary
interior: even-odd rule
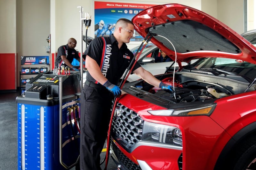
[[[94,59],[100,66],[102,74],[110,83],[115,85],[134,57],[125,43],[123,43],[120,49],[118,48],[118,42],[113,34],[109,37],[97,37],[92,40],[85,50],[83,57],[85,57],[85,55],[89,55]],[[139,67],[141,67],[140,64],[136,63],[132,71]],[[92,78],[90,72],[87,73],[86,80],[98,83]]]

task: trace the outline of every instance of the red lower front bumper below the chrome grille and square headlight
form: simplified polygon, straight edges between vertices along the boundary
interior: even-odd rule
[[[115,140],[111,140],[111,157],[119,169],[182,169],[182,147],[174,149],[165,144],[140,143],[143,144],[128,153]]]

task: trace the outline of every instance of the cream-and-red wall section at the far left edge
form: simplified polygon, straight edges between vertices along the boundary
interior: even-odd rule
[[[16,90],[16,0],[0,1],[0,22],[0,90]]]

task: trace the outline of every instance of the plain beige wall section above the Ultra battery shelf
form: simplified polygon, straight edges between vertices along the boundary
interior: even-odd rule
[[[50,34],[50,0],[17,0],[17,52],[49,55],[45,46]]]

